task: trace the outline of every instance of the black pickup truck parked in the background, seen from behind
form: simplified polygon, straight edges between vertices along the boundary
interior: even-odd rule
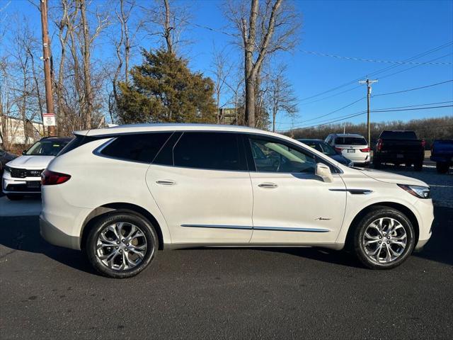
[[[382,163],[395,165],[413,164],[415,171],[423,169],[425,140],[419,140],[413,131],[382,131],[373,154],[373,165],[379,169]]]

